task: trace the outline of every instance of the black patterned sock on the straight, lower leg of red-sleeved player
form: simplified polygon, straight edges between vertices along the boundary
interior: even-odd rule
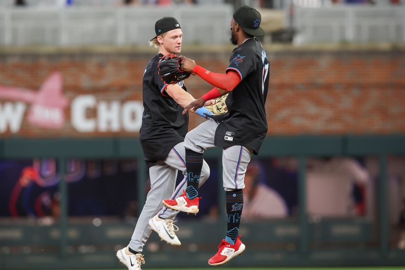
[[[225,241],[229,244],[235,244],[239,236],[239,224],[244,208],[244,194],[242,189],[225,191],[226,194],[226,216],[228,227]]]

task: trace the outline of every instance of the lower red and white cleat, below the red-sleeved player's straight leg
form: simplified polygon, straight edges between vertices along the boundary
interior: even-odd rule
[[[221,244],[218,246],[218,252],[209,261],[210,265],[222,265],[242,254],[245,250],[245,245],[240,241],[240,236],[236,238],[235,244],[231,245],[222,239]]]

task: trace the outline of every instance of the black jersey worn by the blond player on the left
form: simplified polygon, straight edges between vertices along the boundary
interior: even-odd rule
[[[139,137],[148,163],[165,160],[172,147],[184,141],[188,128],[188,114],[182,114],[183,108],[166,93],[157,74],[162,56],[157,54],[149,61],[142,79],[144,111]],[[179,85],[187,91],[183,81]]]

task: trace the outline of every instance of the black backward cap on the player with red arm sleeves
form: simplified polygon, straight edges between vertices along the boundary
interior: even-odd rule
[[[233,19],[246,33],[256,36],[264,35],[264,30],[260,27],[262,15],[254,8],[240,6],[233,13]]]

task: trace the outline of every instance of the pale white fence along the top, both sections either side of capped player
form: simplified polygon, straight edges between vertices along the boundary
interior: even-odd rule
[[[146,44],[154,35],[155,21],[164,16],[179,20],[184,43],[227,44],[232,13],[231,6],[218,3],[171,7],[0,8],[0,46]],[[291,22],[289,16],[286,18]],[[405,43],[404,6],[296,6],[292,19],[292,24],[288,24],[296,30],[293,40],[296,45]]]

